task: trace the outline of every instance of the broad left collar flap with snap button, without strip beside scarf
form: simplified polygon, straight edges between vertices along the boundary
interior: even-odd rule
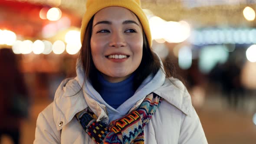
[[[64,79],[57,88],[53,101],[53,118],[57,130],[62,129],[76,113],[87,107],[77,81],[72,78]]]

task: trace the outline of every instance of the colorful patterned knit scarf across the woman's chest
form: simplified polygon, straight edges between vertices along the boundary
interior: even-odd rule
[[[148,124],[161,101],[160,96],[151,93],[137,110],[109,125],[96,121],[97,117],[90,108],[77,113],[76,118],[97,144],[144,144],[144,126]]]

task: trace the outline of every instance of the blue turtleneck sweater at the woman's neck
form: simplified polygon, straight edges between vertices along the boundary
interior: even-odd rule
[[[133,79],[134,74],[122,82],[111,83],[106,81],[103,76],[98,73],[98,82],[99,85],[101,85],[101,90],[98,93],[108,105],[117,109],[122,103],[134,95]]]

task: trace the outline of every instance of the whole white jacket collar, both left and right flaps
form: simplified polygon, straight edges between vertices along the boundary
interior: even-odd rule
[[[161,70],[159,70],[161,71]],[[161,72],[164,75],[164,72]],[[100,104],[91,98],[90,95],[85,93],[80,85],[84,75],[77,73],[75,78],[65,79],[59,85],[56,90],[54,102],[53,102],[53,118],[56,124],[57,130],[60,130],[65,126],[76,113],[90,107],[91,110],[98,116],[97,121],[103,121],[108,123],[108,115],[106,114],[105,105]],[[80,80],[80,81],[79,81]],[[181,81],[170,78],[165,79],[164,84],[156,89],[154,93],[164,98],[165,101],[174,105],[184,114],[190,114],[191,98],[187,92],[187,89]],[[146,96],[146,95],[145,95]],[[138,100],[136,104],[130,109],[130,111],[141,105],[144,98]],[[61,123],[61,124],[60,124]]]

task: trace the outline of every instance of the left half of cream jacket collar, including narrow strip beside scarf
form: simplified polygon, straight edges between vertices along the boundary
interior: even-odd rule
[[[108,122],[105,105],[87,95],[78,84],[77,78],[64,79],[56,90],[53,101],[53,119],[57,130],[61,130],[75,114],[87,107],[98,117],[97,121],[104,119],[105,123]]]

